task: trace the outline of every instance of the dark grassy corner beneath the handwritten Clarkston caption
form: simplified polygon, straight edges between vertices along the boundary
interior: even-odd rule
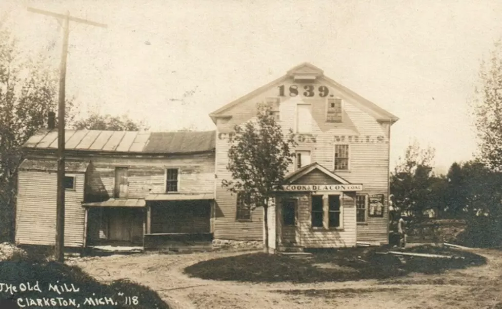
[[[2,261],[2,283],[0,300],[10,299],[30,308],[169,309],[158,294],[146,286],[127,280],[100,283],[77,266],[54,261],[26,257]],[[51,289],[49,284],[57,285],[58,289]],[[72,291],[65,290],[65,284]],[[75,292],[76,289],[79,291]]]

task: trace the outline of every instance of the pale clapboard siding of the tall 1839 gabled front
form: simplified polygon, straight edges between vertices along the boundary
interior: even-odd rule
[[[261,93],[257,93],[242,103],[233,105],[223,112],[225,115],[231,115],[231,118],[216,120],[216,203],[220,210],[220,217],[215,220],[215,236],[218,238],[261,238],[262,220],[260,215],[253,214],[253,222],[235,221],[235,197],[232,197],[228,191],[221,188],[222,179],[230,179],[230,174],[226,170],[228,164],[228,133],[232,132],[235,125],[242,125],[247,121],[256,119],[257,103],[265,102],[268,97],[278,96],[278,86],[284,85],[286,96],[281,98],[279,106],[280,120],[279,124],[283,128],[283,133],[287,134],[289,129],[296,129],[296,109],[299,103],[308,103],[311,105],[311,133],[300,134],[297,136],[297,149],[310,150],[311,162],[317,162],[320,165],[334,171],[340,177],[343,177],[351,183],[363,184],[365,192],[370,194],[384,194],[384,217],[368,218],[365,225],[355,224],[355,207],[344,208],[345,230],[339,232],[338,238],[329,236],[326,231],[314,233],[312,242],[317,242],[320,246],[329,246],[328,243],[335,242],[337,246],[352,245],[357,240],[362,241],[380,241],[387,242],[388,226],[388,180],[389,180],[389,134],[388,125],[381,125],[367,107],[357,99],[338,87],[330,84],[328,80],[319,78],[315,83],[309,83],[318,89],[319,86],[328,86],[329,93],[334,98],[343,100],[344,123],[326,122],[326,99],[303,97],[303,90],[299,95],[290,97],[288,88],[292,85],[292,79],[280,80],[274,85],[270,85]],[[296,83],[297,85],[298,84]],[[302,89],[302,88],[300,88]],[[349,145],[349,170],[335,171],[334,169],[334,148],[335,144]],[[294,171],[292,164],[288,172]],[[302,180],[302,183],[309,181],[319,181],[325,183],[327,180],[320,176],[311,176],[312,179]],[[306,213],[300,216],[303,226],[310,224]],[[309,217],[310,218],[310,217]],[[258,221],[259,220],[259,221]],[[309,219],[310,220],[310,219]],[[253,230],[253,228],[255,230]],[[318,241],[315,240],[318,238]],[[325,243],[323,244],[323,241]],[[309,242],[309,241],[307,241]],[[310,245],[310,244],[309,244]]]

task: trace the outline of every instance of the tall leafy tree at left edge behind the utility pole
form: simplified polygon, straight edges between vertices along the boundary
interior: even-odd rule
[[[0,241],[12,240],[21,146],[46,126],[48,112],[57,109],[57,71],[48,67],[44,57],[31,58],[19,50],[0,23]],[[68,100],[67,121],[73,107]]]

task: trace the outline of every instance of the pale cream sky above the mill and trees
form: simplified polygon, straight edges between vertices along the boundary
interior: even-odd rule
[[[444,172],[476,149],[468,102],[481,60],[502,36],[496,1],[2,0],[22,48],[57,68],[71,23],[68,96],[151,130],[214,129],[208,114],[310,62],[395,114],[391,166],[413,140]]]

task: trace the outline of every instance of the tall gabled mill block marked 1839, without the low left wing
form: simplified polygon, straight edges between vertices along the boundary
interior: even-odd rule
[[[230,173],[228,134],[267,103],[296,134],[288,185],[270,207],[273,249],[388,243],[389,141],[393,114],[308,63],[210,114],[216,125],[214,237],[262,239],[263,210],[220,185]]]

